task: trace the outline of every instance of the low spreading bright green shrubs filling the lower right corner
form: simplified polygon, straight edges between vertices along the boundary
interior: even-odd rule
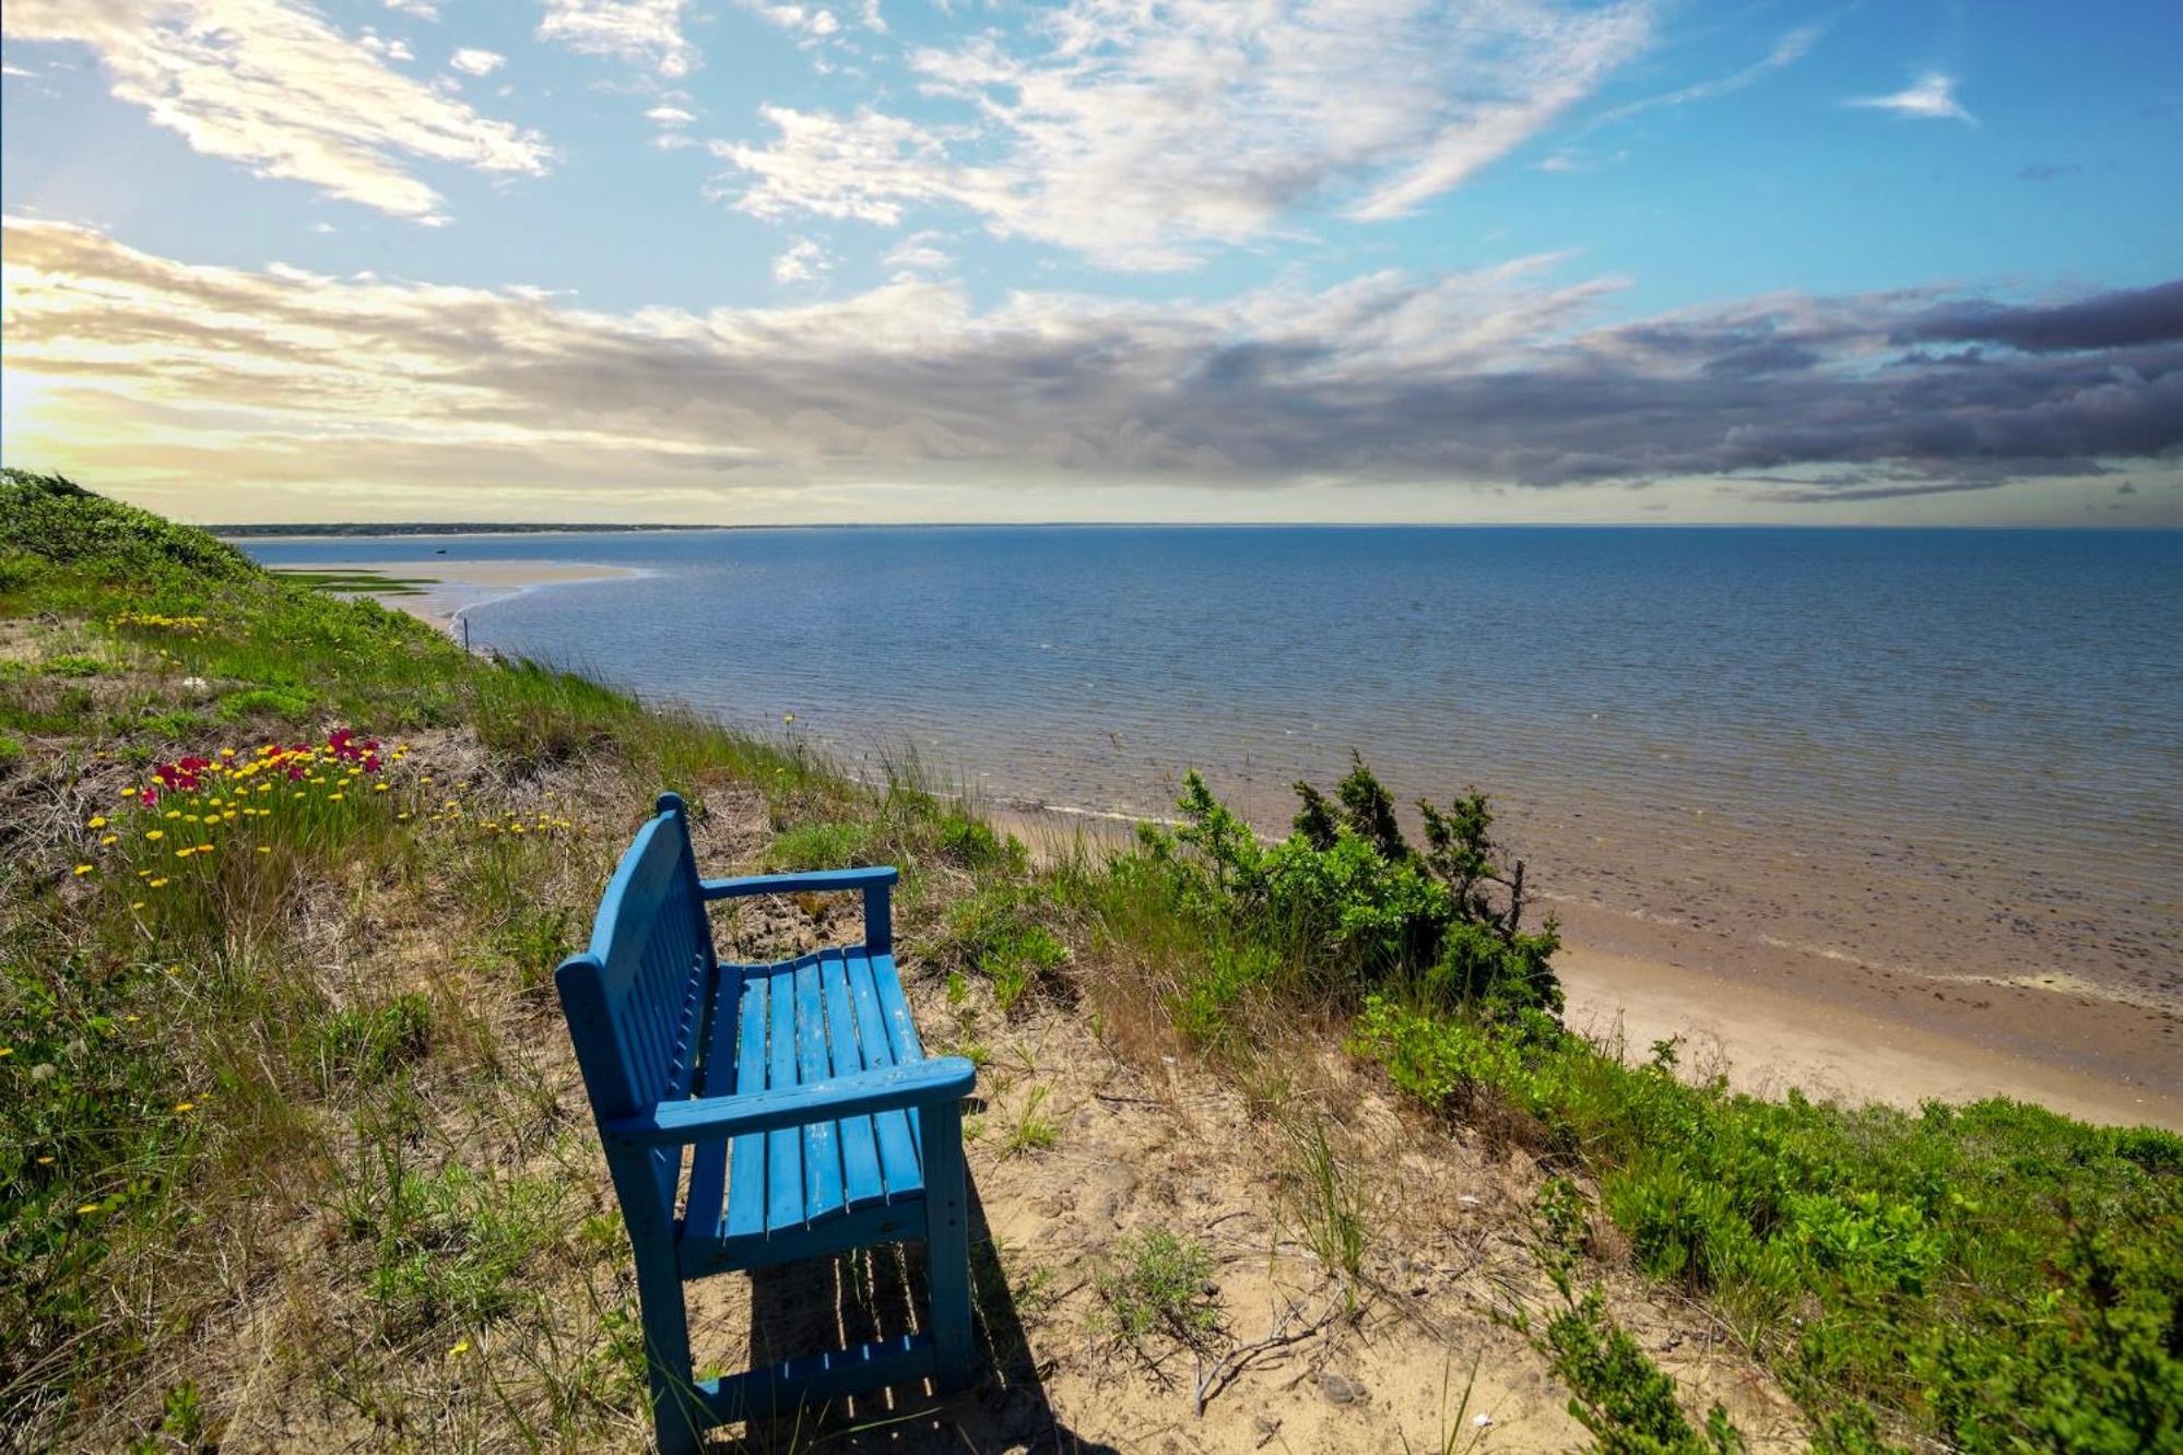
[[[1598,1178],[1639,1267],[1711,1298],[1823,1444],[1869,1444],[1875,1411],[1963,1451],[2183,1438],[2179,1137],[2004,1099],[1762,1102],[1679,1082],[1668,1045],[1629,1067],[1386,997],[1351,1047]]]

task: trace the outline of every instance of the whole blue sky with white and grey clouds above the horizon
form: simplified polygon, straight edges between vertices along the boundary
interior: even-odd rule
[[[9,0],[192,521],[2183,526],[2183,7]]]

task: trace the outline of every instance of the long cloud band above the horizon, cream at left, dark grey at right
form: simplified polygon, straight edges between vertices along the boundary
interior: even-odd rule
[[[803,244],[784,257],[812,275],[825,262]],[[522,480],[522,465],[768,500],[854,482],[1784,473],[1777,497],[1821,504],[2183,467],[2183,338],[2102,323],[2166,308],[2183,281],[2048,305],[1784,294],[1602,325],[1620,284],[1556,284],[1559,266],[1373,273],[1214,303],[1015,292],[985,310],[958,284],[897,277],[795,308],[611,314],[192,266],[9,220],[9,380],[55,401],[9,417],[9,449],[65,441],[70,467],[122,478],[452,489]],[[1943,338],[1973,347],[1917,342]]]

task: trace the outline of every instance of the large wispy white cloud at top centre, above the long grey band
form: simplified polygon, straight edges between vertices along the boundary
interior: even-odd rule
[[[788,7],[797,9],[797,7]],[[768,144],[723,142],[716,188],[758,216],[954,205],[1120,268],[1183,268],[1299,207],[1415,212],[1522,146],[1650,37],[1635,2],[1299,0],[1043,11],[1019,48],[982,35],[910,55],[974,120],[926,129],[766,107]],[[856,159],[856,170],[843,166]]]

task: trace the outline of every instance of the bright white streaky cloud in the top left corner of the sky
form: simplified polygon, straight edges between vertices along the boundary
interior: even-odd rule
[[[114,96],[207,157],[393,216],[445,216],[404,157],[526,177],[552,159],[535,131],[389,70],[365,39],[282,0],[9,0],[0,26],[90,46]]]

